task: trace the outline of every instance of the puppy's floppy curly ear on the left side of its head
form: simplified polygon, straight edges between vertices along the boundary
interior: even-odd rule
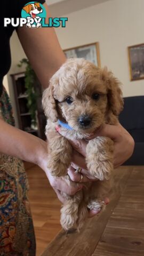
[[[46,117],[50,118],[52,122],[56,122],[58,119],[58,112],[56,102],[53,97],[53,86],[51,83],[49,87],[43,92],[42,105]]]

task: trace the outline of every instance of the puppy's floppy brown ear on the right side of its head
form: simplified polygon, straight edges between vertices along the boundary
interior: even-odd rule
[[[103,68],[101,78],[107,86],[108,109],[115,116],[118,116],[123,110],[124,105],[121,83],[114,77],[111,71],[107,70],[107,67]]]

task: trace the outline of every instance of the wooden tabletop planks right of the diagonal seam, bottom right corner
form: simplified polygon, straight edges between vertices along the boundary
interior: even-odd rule
[[[134,167],[93,256],[144,255],[144,167]]]

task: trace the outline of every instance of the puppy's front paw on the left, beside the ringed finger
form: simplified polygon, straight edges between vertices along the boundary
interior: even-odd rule
[[[53,176],[61,177],[67,174],[67,169],[70,163],[61,161],[61,158],[49,157],[47,168]]]

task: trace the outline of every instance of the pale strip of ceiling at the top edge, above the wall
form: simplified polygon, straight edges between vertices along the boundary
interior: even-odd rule
[[[60,17],[110,0],[46,0],[52,17]]]

